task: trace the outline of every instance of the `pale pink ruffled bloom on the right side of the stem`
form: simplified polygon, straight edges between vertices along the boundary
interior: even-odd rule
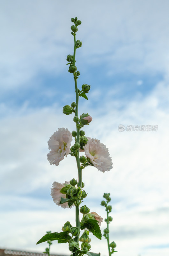
[[[108,148],[100,140],[91,139],[83,147],[85,155],[91,163],[101,172],[110,171],[113,168],[112,158],[109,156]]]

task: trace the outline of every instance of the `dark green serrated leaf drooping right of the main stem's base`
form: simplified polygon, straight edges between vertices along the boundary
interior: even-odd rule
[[[81,229],[87,228],[94,236],[101,240],[101,230],[97,220],[89,219],[82,224]]]

